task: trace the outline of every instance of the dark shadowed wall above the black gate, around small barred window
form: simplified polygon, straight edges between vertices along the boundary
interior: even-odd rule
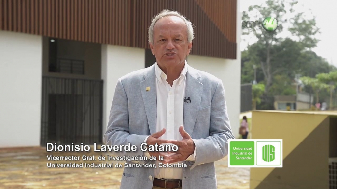
[[[57,57],[84,60],[84,75],[49,72],[49,38],[43,37],[43,75],[101,79],[101,44],[57,39]]]

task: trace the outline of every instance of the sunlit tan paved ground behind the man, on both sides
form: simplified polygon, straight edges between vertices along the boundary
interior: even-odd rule
[[[44,147],[0,149],[0,189],[119,189],[122,168],[47,168],[49,162],[101,162],[48,161],[47,155],[50,154],[83,155],[80,152],[47,153]],[[88,152],[85,155],[98,158],[108,154]],[[224,158],[216,162],[216,173],[218,189],[249,189],[249,168],[228,168],[227,158]]]

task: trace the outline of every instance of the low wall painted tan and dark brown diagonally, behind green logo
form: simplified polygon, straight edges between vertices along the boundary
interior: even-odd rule
[[[283,139],[283,168],[251,168],[250,189],[327,189],[329,116],[253,111],[253,139]]]

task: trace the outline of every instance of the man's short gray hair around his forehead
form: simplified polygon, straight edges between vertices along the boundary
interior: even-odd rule
[[[181,15],[179,12],[171,11],[171,10],[167,10],[167,9],[163,10],[162,12],[160,12],[159,14],[157,14],[156,16],[153,17],[151,25],[149,27],[149,32],[148,32],[149,42],[151,44],[153,44],[153,38],[154,38],[153,27],[154,27],[154,24],[156,24],[156,22],[159,19],[167,17],[167,16],[176,16],[176,17],[179,17],[179,18],[183,19],[183,21],[185,22],[186,27],[187,27],[187,41],[189,43],[191,43],[193,38],[194,38],[192,23],[189,20],[187,20],[183,15]]]

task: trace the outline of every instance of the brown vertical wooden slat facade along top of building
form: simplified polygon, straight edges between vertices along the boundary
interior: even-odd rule
[[[147,29],[163,9],[195,25],[191,54],[236,58],[236,0],[0,0],[0,29],[150,48]]]

